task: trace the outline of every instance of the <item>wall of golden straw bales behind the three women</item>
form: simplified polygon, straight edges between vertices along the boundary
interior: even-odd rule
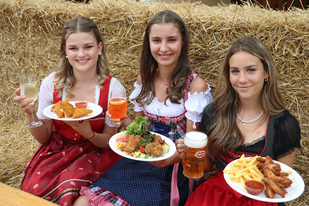
[[[302,148],[293,168],[303,177],[305,191],[286,205],[308,205],[309,193],[309,10],[269,11],[257,6],[215,6],[192,3],[144,3],[93,0],[89,4],[62,0],[0,1],[0,182],[19,188],[24,166],[38,143],[27,128],[26,116],[13,101],[19,75],[35,74],[40,85],[55,71],[60,32],[74,16],[93,19],[103,35],[111,75],[133,91],[139,69],[142,38],[149,19],[169,9],[180,15],[191,36],[192,69],[214,88],[218,68],[235,40],[253,36],[273,54],[279,86],[287,108],[300,124]],[[128,114],[133,115],[128,103]],[[214,170],[206,174],[212,176]]]

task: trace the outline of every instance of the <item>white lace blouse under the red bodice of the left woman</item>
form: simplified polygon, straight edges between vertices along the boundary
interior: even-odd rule
[[[54,92],[54,85],[53,85],[53,79],[56,72],[53,72],[52,74],[49,74],[47,77],[44,78],[41,86],[40,86],[40,92],[39,92],[39,108],[37,111],[37,116],[40,119],[50,119],[49,117],[45,116],[43,114],[43,109],[51,104],[54,103],[53,98],[53,92]],[[125,88],[122,86],[122,84],[116,79],[111,79],[111,82],[109,84],[109,94],[108,99],[110,97],[112,90],[123,90],[125,91]],[[98,85],[95,86],[95,104],[99,103],[99,96],[100,96],[100,88]],[[62,90],[62,101],[66,99],[66,87]],[[110,127],[115,127],[114,124],[112,124],[108,118],[105,118],[105,124],[107,124]]]

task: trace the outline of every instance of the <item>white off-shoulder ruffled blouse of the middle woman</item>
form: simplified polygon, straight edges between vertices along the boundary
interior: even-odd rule
[[[207,85],[208,89],[205,92],[200,92],[199,94],[194,92],[192,95],[188,92],[188,100],[185,101],[184,104],[171,103],[171,101],[167,99],[165,105],[164,102],[159,102],[158,98],[155,97],[150,104],[144,106],[145,110],[159,116],[178,116],[184,113],[184,108],[186,108],[187,112],[185,113],[185,116],[193,121],[193,128],[195,129],[195,123],[201,122],[204,108],[213,101],[210,93],[210,85],[208,83]],[[136,101],[132,100],[140,93],[142,85],[138,85],[137,82],[135,82],[134,87],[135,89],[129,96],[129,100],[134,104],[134,111],[143,111],[143,107],[140,107]],[[179,101],[184,102],[184,99],[180,99]]]

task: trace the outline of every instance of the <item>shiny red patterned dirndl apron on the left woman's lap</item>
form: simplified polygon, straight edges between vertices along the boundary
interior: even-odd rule
[[[82,186],[97,180],[102,149],[53,133],[26,164],[20,189],[59,205],[70,206]]]

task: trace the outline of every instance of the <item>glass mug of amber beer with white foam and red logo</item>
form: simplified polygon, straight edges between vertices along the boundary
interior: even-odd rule
[[[184,137],[183,174],[191,179],[204,175],[207,135],[203,132],[187,132]]]

